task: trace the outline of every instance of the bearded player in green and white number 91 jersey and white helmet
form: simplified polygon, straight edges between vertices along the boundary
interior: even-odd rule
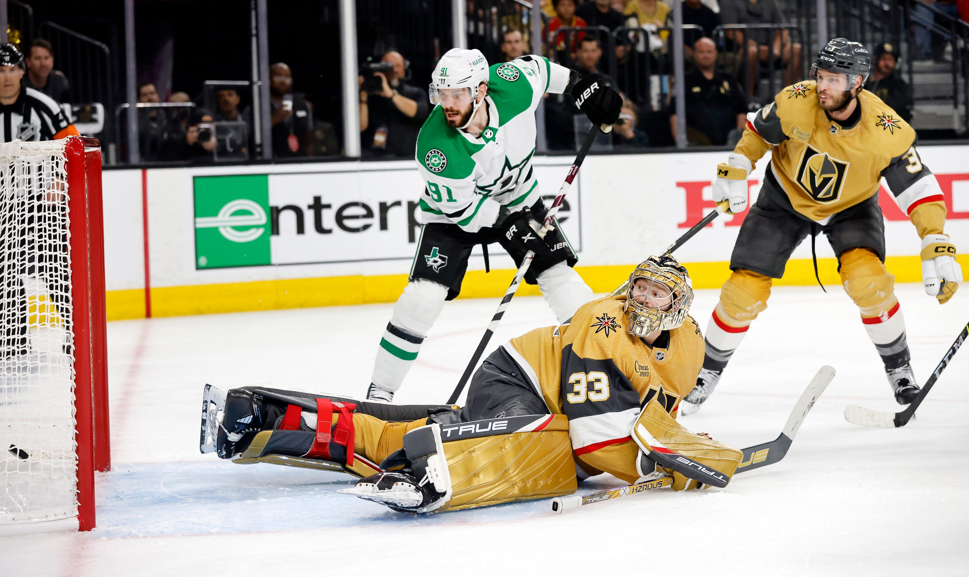
[[[562,322],[592,298],[572,266],[578,261],[560,228],[540,238],[546,208],[532,169],[535,109],[547,92],[570,91],[594,126],[619,117],[621,99],[602,76],[578,74],[527,55],[488,67],[480,50],[453,48],[431,75],[434,109],[418,136],[416,160],[424,181],[422,224],[410,282],[384,331],[367,399],[391,402],[417,359],[446,300],[460,292],[475,245],[499,243],[539,286]]]

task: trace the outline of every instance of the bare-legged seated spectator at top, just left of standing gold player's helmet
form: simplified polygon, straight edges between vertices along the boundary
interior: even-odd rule
[[[720,20],[724,24],[783,24],[784,16],[775,0],[720,0]],[[746,46],[751,98],[757,95],[760,67],[771,60],[775,68],[784,67],[785,85],[801,79],[800,43],[791,42],[790,30],[750,30],[747,34],[728,30],[726,34],[738,51],[739,46]]]

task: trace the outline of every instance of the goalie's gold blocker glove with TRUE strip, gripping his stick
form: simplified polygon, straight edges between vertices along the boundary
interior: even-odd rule
[[[672,470],[678,491],[699,483],[726,487],[743,457],[735,447],[684,428],[656,401],[643,408],[633,425],[633,439],[660,467]]]

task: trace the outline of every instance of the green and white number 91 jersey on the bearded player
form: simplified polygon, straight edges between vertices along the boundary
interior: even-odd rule
[[[515,212],[539,199],[532,170],[535,108],[546,92],[565,91],[570,71],[530,55],[491,66],[489,73],[488,123],[479,137],[448,126],[441,106],[421,128],[422,224],[448,223],[476,232],[494,224],[502,205]]]

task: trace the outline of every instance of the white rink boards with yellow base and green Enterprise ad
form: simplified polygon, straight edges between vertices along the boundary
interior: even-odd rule
[[[920,147],[949,209],[946,231],[969,250],[965,146]],[[712,167],[723,152],[598,155],[585,160],[563,211],[578,270],[596,291],[663,250],[711,210]],[[748,181],[756,199],[765,157]],[[571,156],[537,157],[542,194],[554,196]],[[884,185],[884,182],[883,182]],[[415,257],[423,183],[413,162],[106,170],[109,319],[390,302]],[[883,186],[888,266],[899,282],[921,279],[920,243]],[[679,249],[697,288],[718,287],[745,213],[723,216]],[[965,247],[965,248],[964,248]],[[839,282],[825,240],[821,278]],[[147,264],[146,264],[147,262]],[[969,263],[969,261],[963,261]],[[491,272],[477,249],[462,297],[498,296],[514,263],[494,246]],[[778,284],[814,283],[810,244],[797,248]],[[519,292],[537,294],[535,287]]]

